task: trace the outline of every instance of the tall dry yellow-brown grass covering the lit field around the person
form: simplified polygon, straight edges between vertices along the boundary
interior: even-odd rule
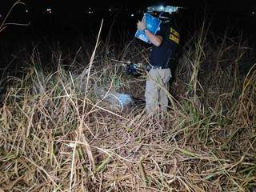
[[[98,41],[92,57],[54,52],[55,70],[37,47],[27,53],[0,108],[0,191],[253,191],[255,65],[240,74],[241,38],[214,42],[205,29],[183,47],[166,118],[110,109],[94,93],[143,98],[144,74],[133,79],[113,62],[133,53],[146,63],[136,42],[122,54]]]

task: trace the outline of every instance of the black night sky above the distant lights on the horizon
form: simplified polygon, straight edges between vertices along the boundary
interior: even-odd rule
[[[10,8],[10,6],[16,1],[14,0],[1,0],[0,10],[5,12]],[[162,0],[162,1],[135,1],[135,0],[110,0],[110,1],[88,1],[88,0],[23,0],[26,2],[34,12],[41,10],[46,6],[53,6],[56,10],[81,10],[86,6],[96,6],[96,7],[110,7],[110,6],[124,6],[130,9],[138,8],[139,6],[147,6],[153,3],[170,3],[173,6],[185,6],[185,7],[196,7],[207,3],[209,6],[214,7],[217,10],[226,11],[247,11],[256,10],[255,1],[238,1],[238,0]]]

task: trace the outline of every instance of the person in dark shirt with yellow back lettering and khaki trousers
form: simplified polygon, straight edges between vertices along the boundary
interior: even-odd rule
[[[170,71],[171,61],[177,50],[180,34],[175,19],[176,13],[162,12],[159,18],[162,20],[160,30],[152,34],[146,29],[146,23],[138,21],[138,30],[143,30],[154,45],[150,53],[150,71],[146,80],[146,113],[157,114],[158,110],[167,111],[168,87],[172,77]]]

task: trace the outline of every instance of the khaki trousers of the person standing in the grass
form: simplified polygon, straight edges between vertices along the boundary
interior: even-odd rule
[[[168,106],[168,87],[171,77],[170,69],[151,69],[146,80],[146,113],[157,114],[158,110],[165,112]]]

